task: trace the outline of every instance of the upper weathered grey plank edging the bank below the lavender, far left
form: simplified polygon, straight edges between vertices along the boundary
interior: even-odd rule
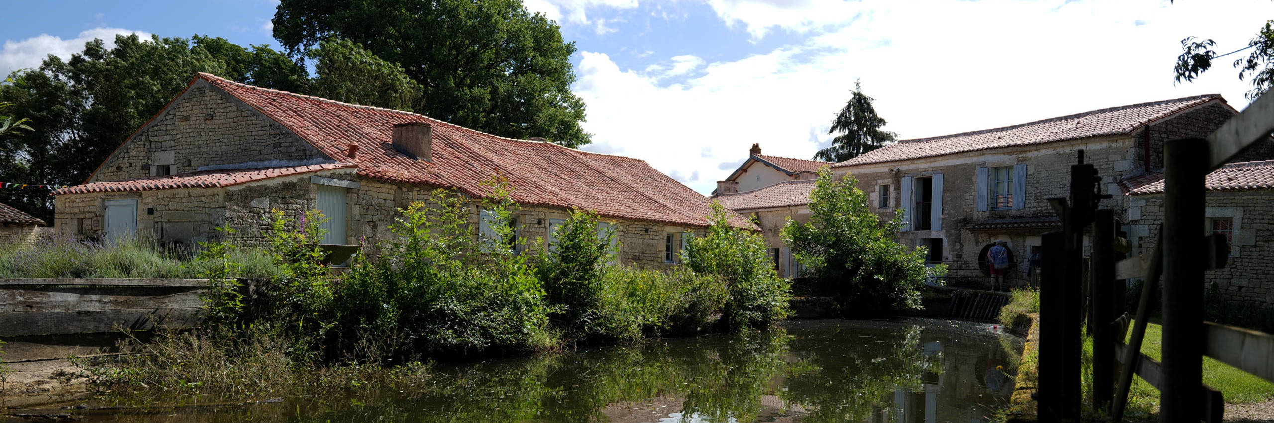
[[[5,312],[190,308],[203,306],[195,287],[10,285],[0,288]],[[0,317],[3,319],[3,317]]]

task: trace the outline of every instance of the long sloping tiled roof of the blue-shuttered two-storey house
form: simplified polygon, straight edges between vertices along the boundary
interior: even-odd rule
[[[901,140],[836,163],[834,167],[896,162],[1089,136],[1130,134],[1150,121],[1213,99],[1224,101],[1219,94],[1195,96],[1153,103],[1111,107],[973,133]]]

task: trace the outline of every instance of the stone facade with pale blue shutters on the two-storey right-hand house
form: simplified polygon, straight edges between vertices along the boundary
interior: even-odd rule
[[[934,196],[941,199],[941,209],[936,210],[940,222],[939,228],[924,229],[919,226],[905,228],[898,234],[901,242],[910,246],[940,246],[941,252],[931,255],[931,262],[941,261],[948,265],[948,283],[954,285],[985,285],[984,250],[991,242],[1003,240],[1009,243],[1017,266],[1010,273],[1010,278],[1019,284],[1028,280],[1028,266],[1026,265],[1033,248],[1040,246],[1040,236],[1049,231],[1059,231],[1049,224],[1019,226],[1015,228],[987,228],[973,229],[975,224],[998,220],[1036,220],[1045,222],[1055,219],[1056,214],[1049,205],[1050,197],[1069,196],[1070,166],[1078,163],[1078,152],[1084,150],[1084,163],[1092,163],[1102,177],[1102,194],[1111,195],[1111,199],[1102,200],[1101,208],[1116,210],[1116,215],[1127,222],[1130,218],[1127,201],[1122,195],[1119,181],[1147,173],[1147,163],[1154,171],[1157,163],[1162,163],[1156,154],[1161,154],[1159,145],[1166,139],[1199,136],[1208,134],[1220,126],[1222,122],[1233,116],[1233,110],[1223,103],[1214,102],[1184,112],[1168,116],[1158,122],[1148,125],[1145,129],[1122,136],[1092,136],[1078,140],[1052,141],[1040,145],[1022,145],[994,148],[987,150],[954,153],[930,158],[896,161],[875,164],[859,164],[846,167],[833,167],[837,177],[852,173],[859,180],[859,187],[868,192],[871,206],[889,219],[901,213],[898,204],[902,197],[902,181],[905,177],[934,178],[941,175],[941,191]],[[1149,133],[1149,135],[1147,135]],[[1147,159],[1147,152],[1150,158]],[[978,168],[989,169],[996,167],[1012,168],[1018,164],[1026,166],[1026,180],[1013,181],[1013,183],[1026,183],[1022,208],[987,208],[978,210],[977,187]],[[887,186],[889,192],[888,204],[882,208],[879,204],[879,191]],[[1014,199],[1017,201],[1018,199]],[[1133,228],[1130,237],[1145,236]]]

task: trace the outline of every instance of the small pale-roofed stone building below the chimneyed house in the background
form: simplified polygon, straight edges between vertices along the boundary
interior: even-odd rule
[[[800,223],[809,220],[809,194],[814,191],[815,182],[818,181],[778,182],[759,190],[724,194],[712,199],[750,218],[761,227],[761,234],[769,245],[769,257],[775,262],[775,269],[784,278],[796,278],[800,275],[799,265],[792,259],[791,248],[787,247],[781,232],[789,218]]]

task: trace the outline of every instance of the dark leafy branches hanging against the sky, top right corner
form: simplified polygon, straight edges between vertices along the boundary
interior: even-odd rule
[[[1200,74],[1212,69],[1213,60],[1226,57],[1245,50],[1251,50],[1247,56],[1235,59],[1233,66],[1238,68],[1238,79],[1247,78],[1252,83],[1252,89],[1243,97],[1255,101],[1261,97],[1270,85],[1274,85],[1274,20],[1266,20],[1265,27],[1256,32],[1256,37],[1247,41],[1247,46],[1218,55],[1212,50],[1217,46],[1213,39],[1199,39],[1186,37],[1181,39],[1181,56],[1177,56],[1176,80],[1191,82]]]

